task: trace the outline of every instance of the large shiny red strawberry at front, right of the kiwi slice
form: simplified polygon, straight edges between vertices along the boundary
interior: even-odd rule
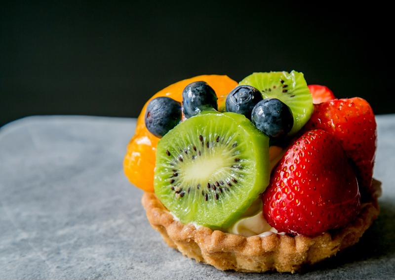
[[[273,171],[263,213],[279,232],[315,236],[353,220],[356,175],[339,141],[321,129],[303,134]]]

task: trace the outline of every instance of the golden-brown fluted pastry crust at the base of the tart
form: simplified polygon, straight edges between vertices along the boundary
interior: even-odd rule
[[[196,228],[176,220],[153,193],[144,193],[142,204],[151,226],[166,243],[197,262],[220,270],[243,272],[295,272],[304,264],[314,264],[355,244],[379,214],[377,198],[381,183],[373,180],[372,198],[361,205],[356,219],[346,228],[326,232],[314,238],[272,234],[267,237],[243,237]]]

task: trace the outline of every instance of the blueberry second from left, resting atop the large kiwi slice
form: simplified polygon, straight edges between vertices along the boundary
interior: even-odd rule
[[[185,118],[191,118],[205,110],[218,110],[217,95],[205,81],[188,84],[182,92],[182,106]]]

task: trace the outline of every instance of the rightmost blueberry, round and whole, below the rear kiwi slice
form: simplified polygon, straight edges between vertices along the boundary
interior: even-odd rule
[[[291,109],[276,98],[259,101],[252,110],[251,120],[259,130],[273,138],[285,136],[293,126]]]

